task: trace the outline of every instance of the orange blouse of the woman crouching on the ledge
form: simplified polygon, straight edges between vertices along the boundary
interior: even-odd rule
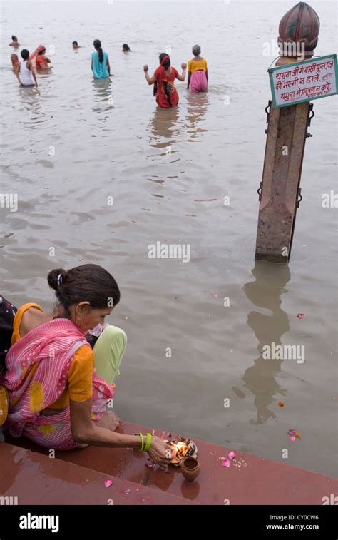
[[[39,304],[24,304],[19,307],[16,312],[13,323],[13,335],[11,344],[14,345],[21,339],[20,326],[21,320],[26,310],[30,307],[43,311]],[[71,367],[68,371],[67,386],[61,396],[49,405],[51,409],[63,409],[68,407],[69,399],[73,401],[83,402],[89,399],[93,394],[93,370],[94,370],[94,353],[90,345],[81,345],[73,356]]]

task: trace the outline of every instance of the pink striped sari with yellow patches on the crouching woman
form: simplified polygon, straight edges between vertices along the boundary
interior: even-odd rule
[[[13,437],[28,437],[56,450],[76,448],[71,435],[70,409],[51,416],[40,414],[66,388],[76,350],[88,345],[83,332],[68,319],[54,319],[31,330],[6,355],[5,386],[9,390],[6,425]],[[113,397],[113,387],[93,372],[92,420],[98,421]]]

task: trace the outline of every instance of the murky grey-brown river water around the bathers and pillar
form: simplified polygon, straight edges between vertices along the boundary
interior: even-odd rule
[[[293,4],[4,4],[1,193],[17,193],[19,209],[0,209],[0,290],[49,310],[48,270],[103,265],[122,291],[111,322],[128,334],[116,381],[122,419],[336,474],[337,209],[322,208],[337,170],[333,97],[314,101],[290,265],[254,260],[267,68],[277,56],[262,48]],[[335,4],[311,5],[316,54],[332,54]],[[47,47],[54,68],[39,92],[11,72],[11,34],[31,51]],[[92,80],[96,38],[111,81]],[[171,46],[180,68],[196,42],[210,91],[191,96],[178,82],[179,107],[158,110],[143,64],[152,73]],[[156,242],[190,245],[190,262],[148,258]],[[264,360],[271,342],[304,345],[305,362]],[[301,441],[289,441],[290,428]]]

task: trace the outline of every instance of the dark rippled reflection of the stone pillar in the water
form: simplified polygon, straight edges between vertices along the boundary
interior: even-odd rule
[[[269,404],[274,401],[275,394],[285,395],[286,392],[275,380],[281,370],[282,360],[263,359],[262,347],[272,342],[281,345],[282,335],[289,330],[289,319],[281,308],[281,295],[290,280],[290,270],[287,265],[256,262],[252,275],[255,281],[244,285],[245,295],[253,305],[267,308],[272,315],[251,311],[247,317],[247,324],[255,332],[259,342],[257,350],[260,355],[254,365],[245,370],[242,378],[245,386],[255,394],[257,421],[251,420],[251,423],[263,424],[270,417],[275,418],[275,414],[268,409]]]

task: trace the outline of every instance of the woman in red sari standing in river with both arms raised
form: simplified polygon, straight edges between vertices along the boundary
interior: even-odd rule
[[[156,69],[152,77],[148,75],[148,66],[143,66],[145,79],[148,84],[157,84],[156,102],[163,108],[175,107],[178,104],[178,91],[175,88],[175,78],[179,81],[185,80],[185,70],[187,64],[182,64],[182,75],[177,69],[171,67],[170,57],[165,54],[160,60],[160,66]]]

